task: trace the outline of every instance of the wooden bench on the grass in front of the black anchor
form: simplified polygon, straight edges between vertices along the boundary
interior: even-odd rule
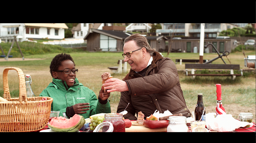
[[[234,80],[236,76],[243,76],[242,69],[241,74],[234,74],[234,70],[240,70],[240,65],[186,63],[185,69],[186,75],[192,76],[193,79],[196,76],[232,76],[232,80]],[[191,69],[191,74],[188,74],[187,69]],[[195,74],[195,69],[228,69],[230,70],[230,74]]]

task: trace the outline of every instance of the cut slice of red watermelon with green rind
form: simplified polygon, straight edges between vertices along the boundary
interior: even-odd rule
[[[48,127],[55,132],[77,132],[85,124],[84,117],[75,114],[72,118],[67,119],[62,116],[51,119]]]

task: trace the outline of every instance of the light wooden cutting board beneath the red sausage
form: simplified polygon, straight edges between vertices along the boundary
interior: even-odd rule
[[[131,121],[131,127],[125,128],[125,132],[166,132],[166,128],[156,128],[150,129],[145,127],[144,125],[136,124],[137,121]],[[134,125],[133,125],[134,124]]]

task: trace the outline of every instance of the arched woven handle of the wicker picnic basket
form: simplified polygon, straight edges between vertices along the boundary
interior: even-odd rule
[[[25,77],[23,74],[23,71],[20,68],[16,67],[8,67],[3,70],[3,98],[9,99],[11,98],[9,85],[8,85],[8,71],[9,70],[16,70],[19,75],[19,101],[22,103],[22,101],[25,101],[27,104],[27,92],[26,92],[26,83],[25,83]]]

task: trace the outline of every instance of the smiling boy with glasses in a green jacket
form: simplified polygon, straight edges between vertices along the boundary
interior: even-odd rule
[[[76,78],[78,69],[69,54],[56,55],[51,61],[50,73],[53,77],[46,89],[39,96],[53,98],[51,111],[60,111],[59,116],[70,118],[74,114],[89,118],[98,113],[110,113],[108,102],[109,92],[103,87],[99,92],[98,100],[95,93],[79,83]]]

